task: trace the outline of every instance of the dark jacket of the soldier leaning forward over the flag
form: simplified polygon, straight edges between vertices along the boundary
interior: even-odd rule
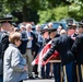
[[[60,55],[60,59],[62,65],[67,65],[74,60],[74,56],[71,52],[71,46],[73,44],[73,40],[68,35],[61,35],[60,37],[57,37],[51,43],[51,48],[47,52],[44,60],[47,60],[55,50],[57,50]]]

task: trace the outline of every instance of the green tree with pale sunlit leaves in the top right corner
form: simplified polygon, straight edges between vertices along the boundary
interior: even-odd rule
[[[67,0],[71,4],[69,5],[69,15],[78,21],[83,17],[83,0]]]

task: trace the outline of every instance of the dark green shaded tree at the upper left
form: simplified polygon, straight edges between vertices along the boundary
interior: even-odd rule
[[[0,2],[2,3],[1,16],[12,12],[13,15],[21,15],[22,21],[34,21],[34,19],[38,19],[37,10],[43,9],[39,0],[0,0]]]

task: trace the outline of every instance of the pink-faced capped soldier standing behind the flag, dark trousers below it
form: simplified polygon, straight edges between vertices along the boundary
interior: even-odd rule
[[[42,31],[42,35],[43,35],[43,45],[42,45],[42,49],[43,49],[44,46],[46,46],[46,44],[49,43],[49,40],[50,40],[49,34],[48,34],[48,26],[44,27],[44,30]],[[42,79],[50,79],[51,78],[49,75],[50,62],[48,62],[46,66],[42,66],[40,70],[42,70],[42,72],[40,72]]]

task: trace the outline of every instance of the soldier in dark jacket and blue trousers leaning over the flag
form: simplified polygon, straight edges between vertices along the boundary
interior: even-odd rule
[[[63,67],[64,82],[74,82],[74,56],[71,52],[72,44],[73,40],[71,39],[71,37],[69,37],[68,35],[61,35],[60,37],[57,37],[52,40],[51,48],[44,58],[44,61],[46,61],[55,50],[59,52],[61,65]]]

